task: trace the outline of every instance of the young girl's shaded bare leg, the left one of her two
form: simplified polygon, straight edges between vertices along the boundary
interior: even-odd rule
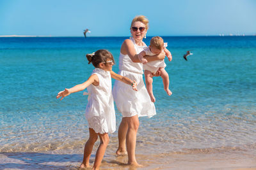
[[[92,128],[89,128],[89,132],[90,132],[90,138],[88,139],[88,141],[86,141],[86,144],[84,145],[84,158],[80,166],[81,168],[90,167],[89,160],[92,154],[93,145],[98,139],[98,134]]]

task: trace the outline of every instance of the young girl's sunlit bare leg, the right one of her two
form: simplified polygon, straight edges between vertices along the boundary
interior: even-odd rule
[[[104,153],[105,153],[106,148],[109,143],[108,133],[98,134],[98,135],[100,137],[100,145],[99,145],[99,148],[97,149],[95,161],[94,161],[92,169],[100,169],[100,164],[102,162]]]

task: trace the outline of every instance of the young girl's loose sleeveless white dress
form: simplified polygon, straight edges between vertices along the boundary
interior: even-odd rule
[[[89,127],[96,133],[113,133],[116,130],[116,117],[111,92],[111,74],[99,68],[95,68],[92,74],[97,74],[99,85],[87,87],[89,96],[85,117]]]

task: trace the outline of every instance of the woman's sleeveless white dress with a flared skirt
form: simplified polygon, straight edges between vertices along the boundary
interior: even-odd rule
[[[136,53],[140,53],[143,47],[146,46],[138,46],[134,42],[134,39],[131,40],[134,43]],[[140,62],[132,62],[128,55],[120,53],[118,74],[135,80],[138,83],[138,91],[134,91],[131,85],[127,85],[121,81],[115,81],[113,97],[116,107],[122,113],[123,117],[133,117],[135,115],[138,115],[138,117],[152,117],[156,115],[155,105],[150,100],[143,81],[142,64]]]

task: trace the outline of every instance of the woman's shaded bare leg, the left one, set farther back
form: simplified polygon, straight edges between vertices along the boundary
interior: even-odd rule
[[[116,150],[116,155],[127,155],[126,150],[126,134],[128,131],[128,124],[124,121],[124,118],[122,118],[122,122],[119,125],[118,128],[118,149]]]

